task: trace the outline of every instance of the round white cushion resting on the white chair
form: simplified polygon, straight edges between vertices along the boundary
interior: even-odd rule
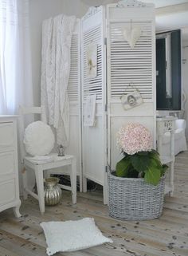
[[[36,121],[25,128],[25,151],[31,156],[45,156],[52,151],[55,143],[53,131],[48,124]]]

